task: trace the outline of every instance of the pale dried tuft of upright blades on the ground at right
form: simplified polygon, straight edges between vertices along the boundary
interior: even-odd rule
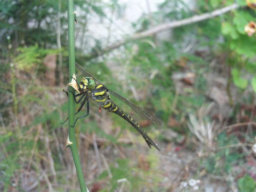
[[[189,130],[194,134],[203,146],[209,149],[214,147],[214,139],[216,135],[215,121],[210,122],[206,117],[209,111],[212,110],[212,104],[207,107],[201,107],[198,112],[198,118],[195,115],[189,114],[188,123]]]

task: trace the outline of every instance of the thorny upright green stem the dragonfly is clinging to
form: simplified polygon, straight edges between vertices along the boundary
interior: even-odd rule
[[[68,60],[69,60],[69,76],[70,76],[70,81],[71,77],[73,74],[76,73],[76,68],[75,68],[75,30],[74,30],[74,3],[73,0],[67,0],[67,15],[68,15]],[[69,133],[69,139],[71,142],[73,142],[70,146],[74,163],[76,166],[76,172],[77,172],[77,177],[79,180],[81,192],[87,192],[87,186],[85,185],[84,182],[84,175],[82,172],[82,167],[79,159],[79,154],[77,150],[77,145],[76,145],[76,132],[75,132],[75,127],[72,127],[75,122],[75,100],[72,94],[69,94],[68,97],[68,117],[69,117],[69,127],[68,127],[68,133]]]

